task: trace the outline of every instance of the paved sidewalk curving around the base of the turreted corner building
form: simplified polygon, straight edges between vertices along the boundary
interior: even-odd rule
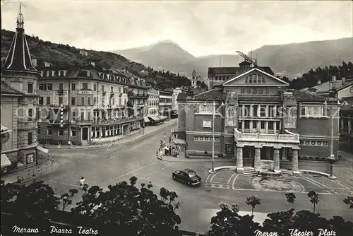
[[[1,176],[1,180],[5,181],[5,184],[17,182],[18,177],[23,181],[28,179],[34,179],[40,175],[45,175],[58,166],[56,160],[53,158],[38,158],[38,164],[33,167],[24,168],[21,170],[14,171],[10,174]]]

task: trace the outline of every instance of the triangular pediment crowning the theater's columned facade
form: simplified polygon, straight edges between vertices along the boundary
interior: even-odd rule
[[[246,71],[239,76],[230,78],[228,81],[223,83],[224,86],[261,86],[261,85],[270,85],[270,86],[287,86],[289,85],[285,81],[282,81],[280,78],[270,75],[265,71],[254,68],[250,71]]]

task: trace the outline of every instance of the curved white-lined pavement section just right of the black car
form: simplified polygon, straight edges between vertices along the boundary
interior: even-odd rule
[[[232,179],[238,174],[234,170],[220,170],[210,173],[205,181],[205,187],[217,189],[232,189]]]

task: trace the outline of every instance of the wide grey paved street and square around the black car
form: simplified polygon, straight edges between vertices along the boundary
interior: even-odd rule
[[[215,216],[215,212],[221,202],[236,203],[240,206],[241,214],[251,214],[251,207],[245,203],[246,197],[258,196],[261,199],[261,205],[255,209],[255,220],[258,221],[263,221],[267,213],[284,211],[290,207],[285,193],[255,189],[251,187],[251,177],[249,176],[238,176],[234,175],[234,172],[224,172],[223,176],[217,174],[217,176],[208,177],[211,163],[172,163],[157,160],[156,151],[160,145],[160,140],[163,139],[164,133],[167,134],[168,139],[172,128],[175,129],[175,126],[167,126],[137,141],[108,148],[51,149],[50,154],[56,157],[59,167],[39,179],[52,186],[56,194],[64,194],[68,189],[80,189],[80,177],[85,177],[86,183],[90,186],[98,185],[106,189],[109,184],[124,180],[128,182],[130,177],[136,176],[138,177],[138,186],[142,182],[146,184],[152,182],[153,189],[157,195],[161,187],[165,187],[169,191],[176,191],[178,194],[177,201],[181,203],[177,210],[182,221],[180,228],[181,230],[196,232],[206,232],[210,228],[210,219]],[[215,163],[215,167],[225,165],[234,165],[234,163],[232,163],[232,160]],[[172,172],[184,167],[190,167],[203,178],[201,187],[189,187],[172,179]],[[237,180],[234,180],[234,178]],[[309,202],[309,197],[306,196],[306,193],[314,190],[319,193],[321,200],[316,206],[318,213],[321,213],[324,217],[339,215],[345,220],[353,220],[352,209],[347,208],[347,205],[342,202],[346,195],[349,196],[351,186],[347,187],[347,184],[343,184],[348,188],[346,189],[347,191],[334,193],[327,192],[322,188],[318,189],[318,186],[321,185],[313,184],[311,180],[306,179],[306,182],[304,180],[304,178],[297,179],[299,185],[304,187],[304,189],[301,189],[303,191],[300,193],[296,193],[297,199],[294,203],[296,209],[308,209],[311,211],[312,204]],[[316,180],[316,182],[318,181]],[[216,185],[212,185],[212,183]],[[217,186],[217,183],[220,185]],[[337,185],[337,182],[335,184]],[[223,187],[220,187],[221,185]],[[333,188],[326,182],[324,186]],[[344,189],[343,187],[341,188]],[[340,188],[337,187],[337,189]],[[80,199],[80,193],[82,193],[81,190],[79,190],[79,194],[74,201]],[[72,206],[75,205],[69,207]]]

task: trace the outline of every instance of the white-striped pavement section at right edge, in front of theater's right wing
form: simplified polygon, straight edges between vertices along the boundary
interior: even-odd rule
[[[297,179],[304,186],[304,191],[316,191],[318,194],[353,194],[353,188],[343,184],[339,179],[324,176],[302,175]]]

